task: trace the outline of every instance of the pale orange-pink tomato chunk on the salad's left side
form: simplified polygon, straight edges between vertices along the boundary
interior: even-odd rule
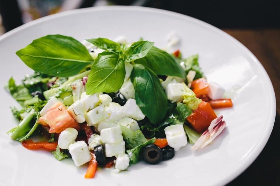
[[[80,130],[80,125],[67,111],[67,108],[61,102],[53,105],[45,115],[39,118],[39,123],[49,126],[49,133],[60,133],[66,128],[75,128]]]

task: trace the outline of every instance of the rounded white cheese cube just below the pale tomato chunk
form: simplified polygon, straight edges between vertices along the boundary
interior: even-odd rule
[[[69,145],[75,142],[78,131],[74,128],[66,128],[58,137],[58,146],[60,149],[68,149]]]

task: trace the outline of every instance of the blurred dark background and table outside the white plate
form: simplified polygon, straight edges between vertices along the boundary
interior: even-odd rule
[[[0,0],[0,35],[46,15],[110,5],[153,7],[189,15],[222,29],[251,50],[272,81],[276,120],[259,157],[228,185],[280,185],[280,0]]]

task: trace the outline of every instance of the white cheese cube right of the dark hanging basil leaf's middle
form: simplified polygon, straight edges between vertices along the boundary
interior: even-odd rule
[[[185,87],[182,83],[170,83],[165,90],[167,98],[171,101],[181,102],[183,101],[183,94]]]

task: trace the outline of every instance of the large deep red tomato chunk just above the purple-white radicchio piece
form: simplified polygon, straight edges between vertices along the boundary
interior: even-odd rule
[[[217,115],[210,104],[202,101],[195,112],[187,117],[187,120],[197,132],[201,133],[209,127],[215,118]]]

